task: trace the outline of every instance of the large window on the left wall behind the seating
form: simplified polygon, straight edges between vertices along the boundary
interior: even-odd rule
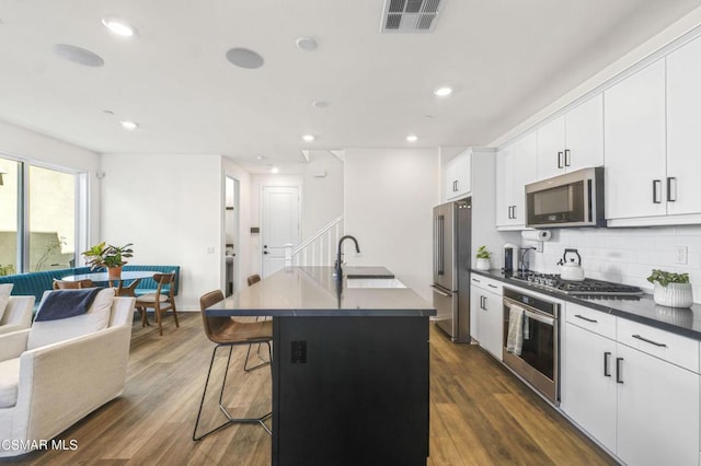
[[[0,158],[0,275],[73,267],[79,176]]]

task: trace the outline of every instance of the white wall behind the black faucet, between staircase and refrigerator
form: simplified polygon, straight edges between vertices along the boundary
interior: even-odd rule
[[[356,257],[346,242],[345,261],[384,266],[429,301],[438,150],[347,149],[344,178],[345,232],[361,252]]]

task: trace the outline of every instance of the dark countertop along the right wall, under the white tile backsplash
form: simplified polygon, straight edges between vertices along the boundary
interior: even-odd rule
[[[633,299],[571,296],[543,290],[541,288],[530,287],[524,281],[506,277],[501,270],[471,271],[473,273],[493,278],[513,287],[548,294],[563,301],[581,304],[629,321],[640,322],[641,324],[646,324],[651,327],[701,340],[701,304],[694,304],[690,308],[660,306],[655,304],[653,295],[648,293]]]

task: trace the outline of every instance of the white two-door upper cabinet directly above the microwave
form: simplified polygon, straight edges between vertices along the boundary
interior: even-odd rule
[[[604,97],[597,94],[538,129],[538,178],[604,164]]]

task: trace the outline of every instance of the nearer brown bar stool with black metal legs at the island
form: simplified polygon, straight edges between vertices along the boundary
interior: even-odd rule
[[[209,362],[209,370],[207,371],[207,380],[205,381],[205,388],[202,394],[202,401],[199,403],[199,410],[197,411],[197,420],[195,421],[195,429],[193,431],[193,440],[198,441],[217,432],[227,426],[234,423],[258,423],[267,431],[272,433],[271,429],[265,424],[265,420],[271,417],[272,411],[258,417],[258,418],[234,418],[227,408],[222,405],[223,389],[227,384],[227,374],[229,372],[229,364],[231,363],[231,353],[234,346],[251,345],[251,343],[265,343],[267,345],[268,357],[273,358],[273,351],[271,349],[271,341],[273,340],[273,322],[238,322],[231,317],[211,317],[207,316],[205,310],[212,304],[223,301],[223,293],[220,290],[210,291],[204,294],[199,299],[199,308],[202,312],[203,326],[205,335],[209,340],[217,343],[211,352],[211,361]],[[202,410],[205,404],[205,397],[207,395],[207,387],[209,385],[209,377],[211,375],[211,368],[215,363],[217,350],[221,347],[229,347],[229,354],[227,357],[227,365],[225,369],[223,377],[221,381],[221,389],[219,392],[219,409],[226,416],[227,420],[211,429],[210,431],[198,435],[197,427],[199,426],[199,419],[202,418]],[[249,348],[250,349],[250,348]]]

